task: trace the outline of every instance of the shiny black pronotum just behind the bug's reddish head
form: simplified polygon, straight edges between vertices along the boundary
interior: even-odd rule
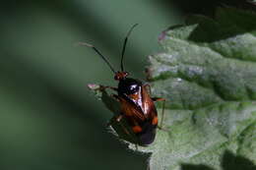
[[[122,79],[118,84],[118,94],[134,94],[140,90],[141,86],[142,82],[138,80],[131,78]]]

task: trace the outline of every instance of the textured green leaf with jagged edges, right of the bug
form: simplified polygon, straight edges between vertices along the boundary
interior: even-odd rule
[[[150,56],[148,77],[153,95],[166,98],[168,131],[138,148],[152,152],[150,169],[255,168],[255,21],[254,13],[219,9],[215,20],[189,17],[160,34],[164,52]]]

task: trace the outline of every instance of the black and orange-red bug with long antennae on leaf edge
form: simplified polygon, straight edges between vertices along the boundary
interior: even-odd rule
[[[85,42],[80,42],[80,44],[93,48],[114,73],[114,80],[119,82],[117,87],[101,86],[102,88],[110,88],[116,91],[116,94],[112,94],[112,96],[120,103],[120,113],[114,117],[114,121],[121,122],[122,119],[125,119],[129,127],[122,126],[123,131],[127,135],[131,135],[130,132],[132,132],[136,137],[136,144],[146,146],[154,142],[156,131],[159,127],[158,112],[154,102],[163,101],[163,118],[165,99],[151,97],[150,85],[143,84],[140,80],[128,78],[128,72],[124,71],[123,59],[127,40],[133,28],[137,25],[130,28],[124,39],[120,71],[115,71],[94,45]],[[127,131],[127,128],[130,128],[131,131]]]

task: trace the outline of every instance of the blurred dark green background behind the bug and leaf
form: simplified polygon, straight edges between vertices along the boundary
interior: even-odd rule
[[[119,69],[124,36],[138,23],[125,69],[144,80],[163,29],[225,5],[251,8],[241,0],[1,1],[0,169],[146,169],[149,155],[108,133],[112,113],[87,87],[116,85],[113,74],[92,49],[75,44],[95,44]]]

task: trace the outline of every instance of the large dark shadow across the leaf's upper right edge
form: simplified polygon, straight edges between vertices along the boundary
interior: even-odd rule
[[[198,27],[193,30],[188,39],[195,42],[214,42],[251,32],[256,26],[251,24],[251,21],[255,19],[255,13],[234,8],[218,8],[215,20],[200,15],[190,16],[186,24],[198,24]]]

